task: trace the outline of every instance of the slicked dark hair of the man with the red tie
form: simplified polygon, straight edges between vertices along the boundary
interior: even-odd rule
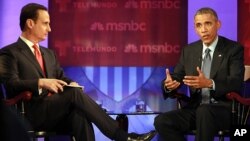
[[[37,3],[29,3],[22,8],[20,14],[20,23],[19,23],[22,31],[24,31],[27,19],[33,19],[34,21],[36,21],[38,17],[38,12],[37,12],[38,10],[47,11],[47,8]]]

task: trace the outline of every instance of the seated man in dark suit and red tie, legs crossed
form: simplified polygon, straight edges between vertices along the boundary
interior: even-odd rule
[[[32,99],[25,106],[27,118],[34,129],[67,129],[77,141],[93,141],[94,123],[112,140],[143,141],[153,138],[154,131],[126,133],[80,88],[65,87],[78,84],[64,75],[53,51],[38,44],[51,31],[46,7],[35,3],[25,5],[20,14],[20,27],[20,38],[2,48],[0,55],[10,63],[10,75],[5,80],[8,97],[23,91],[32,92]]]

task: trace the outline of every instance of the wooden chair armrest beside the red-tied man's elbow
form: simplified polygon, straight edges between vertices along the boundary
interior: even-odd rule
[[[15,105],[17,104],[19,101],[24,100],[24,101],[29,101],[32,97],[32,93],[30,91],[25,91],[22,92],[20,94],[18,94],[17,96],[10,98],[10,99],[6,99],[4,100],[6,105]]]

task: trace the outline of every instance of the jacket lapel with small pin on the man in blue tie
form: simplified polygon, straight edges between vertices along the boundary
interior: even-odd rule
[[[219,66],[224,58],[223,46],[224,46],[223,41],[219,37],[219,41],[216,45],[214,55],[213,55],[210,78],[213,78],[215,76],[215,74],[218,71]]]

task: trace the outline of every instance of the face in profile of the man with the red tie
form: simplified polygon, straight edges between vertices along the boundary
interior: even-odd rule
[[[38,18],[33,21],[31,35],[36,42],[46,39],[51,31],[49,13],[45,10],[38,10]]]

